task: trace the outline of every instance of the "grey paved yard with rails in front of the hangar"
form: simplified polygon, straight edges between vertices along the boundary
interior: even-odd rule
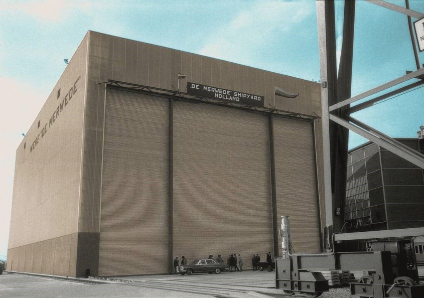
[[[274,288],[275,272],[222,272],[219,274],[150,275],[77,280],[4,272],[0,275],[0,297],[227,297],[283,298]],[[87,281],[87,279],[82,279]],[[81,281],[81,280],[79,280]],[[348,287],[331,288],[323,298],[357,298]]]

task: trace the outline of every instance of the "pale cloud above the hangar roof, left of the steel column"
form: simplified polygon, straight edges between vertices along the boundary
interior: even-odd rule
[[[206,39],[199,54],[250,64],[264,45],[287,35],[313,12],[302,2],[257,2],[240,12]],[[293,33],[293,38],[295,38]]]

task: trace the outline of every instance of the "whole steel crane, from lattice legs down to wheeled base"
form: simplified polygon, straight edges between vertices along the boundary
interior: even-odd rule
[[[346,168],[349,130],[383,146],[391,153],[424,169],[424,155],[399,141],[355,119],[351,114],[376,102],[424,84],[424,68],[419,62],[413,38],[412,18],[424,19],[424,14],[381,0],[365,0],[408,18],[415,71],[386,82],[361,94],[351,96],[353,37],[356,1],[345,0],[343,42],[337,71],[335,1],[317,1],[318,36],[321,68],[322,127],[324,152],[325,222],[324,245],[327,252],[291,254],[288,218],[281,219],[282,258],[276,259],[275,286],[288,296],[317,297],[328,290],[328,281],[321,271],[367,271],[358,282],[350,283],[351,293],[360,297],[418,298],[424,296],[424,284],[419,284],[413,241],[410,237],[424,235],[424,227],[333,233],[341,231],[344,216],[334,216],[335,210],[344,214],[346,198]],[[424,21],[423,21],[424,24]],[[424,48],[424,47],[423,47]],[[388,91],[390,89],[390,91]],[[361,100],[361,103],[350,104]],[[340,208],[340,209],[339,209]],[[404,237],[402,239],[398,237]],[[373,239],[373,240],[370,240]],[[338,252],[335,242],[361,240],[372,249]],[[394,262],[393,262],[394,261]]]

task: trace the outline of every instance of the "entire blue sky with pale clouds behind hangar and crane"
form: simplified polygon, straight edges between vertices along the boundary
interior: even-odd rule
[[[405,5],[403,0],[389,2]],[[424,1],[409,3],[412,10],[424,12]],[[338,51],[342,20],[339,0]],[[88,30],[320,80],[313,0],[0,0],[0,259],[7,256],[15,153],[22,133],[64,71],[63,60],[72,57]],[[416,66],[406,16],[358,0],[352,96],[407,70]],[[417,137],[424,125],[423,95],[424,88],[417,88],[353,116],[391,137]],[[350,148],[365,141],[349,135]]]

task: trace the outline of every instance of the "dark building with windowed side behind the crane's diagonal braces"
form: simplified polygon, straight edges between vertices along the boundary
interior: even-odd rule
[[[419,150],[418,139],[397,138]],[[367,142],[348,155],[348,232],[424,227],[423,170]]]

